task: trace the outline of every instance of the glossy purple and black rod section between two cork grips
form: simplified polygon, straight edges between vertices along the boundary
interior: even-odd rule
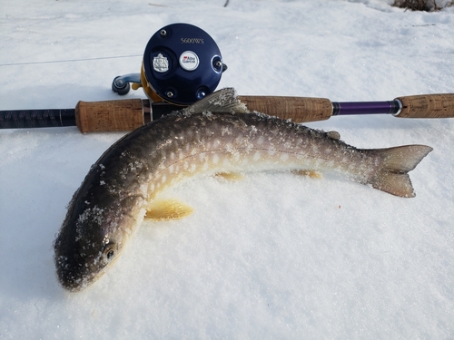
[[[399,112],[399,102],[332,102],[332,115],[378,114]]]

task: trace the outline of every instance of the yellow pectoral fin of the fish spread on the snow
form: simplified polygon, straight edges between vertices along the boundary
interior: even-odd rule
[[[176,199],[157,199],[148,207],[145,219],[183,219],[192,214],[192,207]]]

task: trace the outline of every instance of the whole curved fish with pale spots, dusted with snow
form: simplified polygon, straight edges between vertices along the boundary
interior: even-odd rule
[[[143,219],[179,219],[191,207],[160,199],[183,180],[262,170],[341,174],[392,195],[415,196],[408,172],[432,148],[357,149],[319,131],[248,112],[232,88],[123,136],[97,160],[54,239],[61,286],[76,292],[112,267]]]

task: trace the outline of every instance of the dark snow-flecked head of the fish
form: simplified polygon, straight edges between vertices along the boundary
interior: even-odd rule
[[[130,219],[113,206],[68,211],[54,241],[56,273],[65,289],[82,290],[104,274],[123,249]]]

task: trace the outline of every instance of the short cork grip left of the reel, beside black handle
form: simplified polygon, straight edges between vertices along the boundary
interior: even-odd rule
[[[133,131],[143,125],[142,100],[78,102],[75,123],[84,133]]]

